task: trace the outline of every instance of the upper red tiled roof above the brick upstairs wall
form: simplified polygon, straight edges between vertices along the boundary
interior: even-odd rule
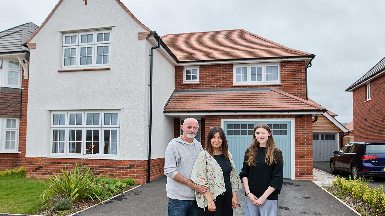
[[[294,50],[243,29],[170,34],[161,37],[179,61],[299,57]]]

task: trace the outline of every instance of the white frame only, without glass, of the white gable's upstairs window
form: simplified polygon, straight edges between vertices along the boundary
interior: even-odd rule
[[[109,33],[109,41],[102,41],[102,42],[97,42],[97,34],[99,33]],[[87,42],[87,43],[81,43],[81,35],[90,35],[92,34],[92,42]],[[66,36],[76,36],[76,43],[70,43],[70,44],[65,44],[65,37]],[[68,69],[68,68],[100,68],[100,67],[105,67],[105,66],[110,66],[111,65],[111,36],[112,36],[112,31],[111,30],[100,30],[100,31],[87,31],[87,32],[77,32],[77,33],[65,33],[63,34],[63,42],[62,42],[62,68]],[[102,63],[102,64],[96,64],[97,60],[97,47],[104,47],[108,46],[109,47],[109,52],[108,52],[108,63]],[[80,65],[80,48],[84,47],[92,47],[92,64],[90,65]],[[76,56],[75,56],[75,65],[67,65],[64,66],[64,51],[65,49],[70,49],[70,48],[76,48]]]

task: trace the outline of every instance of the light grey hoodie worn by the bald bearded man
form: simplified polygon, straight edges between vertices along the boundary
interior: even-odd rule
[[[187,143],[182,136],[171,140],[166,148],[164,156],[164,174],[167,176],[167,197],[171,199],[193,200],[195,191],[187,185],[173,180],[177,173],[190,179],[192,166],[194,166],[198,153],[202,151],[202,145],[194,139]]]

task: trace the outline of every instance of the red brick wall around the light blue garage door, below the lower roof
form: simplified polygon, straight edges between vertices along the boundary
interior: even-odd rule
[[[295,179],[313,179],[313,119],[312,115],[206,115],[204,137],[211,127],[221,126],[221,119],[295,119]],[[202,139],[202,144],[205,141]],[[203,146],[203,148],[205,145]]]

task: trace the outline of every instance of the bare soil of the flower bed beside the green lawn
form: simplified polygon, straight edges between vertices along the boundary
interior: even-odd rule
[[[127,186],[123,193],[126,193],[128,190],[130,190],[132,188],[135,188],[136,186],[139,186],[139,184],[134,184],[134,185]],[[112,197],[114,197],[116,195],[118,195],[118,194],[117,193],[112,194]],[[102,201],[104,201],[104,200],[102,200]],[[86,208],[88,208],[90,206],[93,206],[94,204],[100,203],[97,199],[95,199],[95,202],[96,203],[94,203],[94,201],[92,201],[90,199],[82,199],[79,202],[72,204],[72,207],[70,209],[68,209],[67,213],[60,214],[55,209],[50,207],[50,208],[44,209],[43,211],[39,211],[38,213],[36,213],[36,215],[68,216],[68,215],[73,214],[75,212],[84,210],[84,209],[86,209]]]

